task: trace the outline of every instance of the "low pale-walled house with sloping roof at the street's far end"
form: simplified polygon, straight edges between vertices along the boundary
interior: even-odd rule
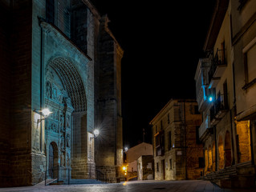
[[[137,176],[137,160],[142,155],[152,155],[152,145],[142,142],[137,146],[133,146],[126,152],[128,178]]]

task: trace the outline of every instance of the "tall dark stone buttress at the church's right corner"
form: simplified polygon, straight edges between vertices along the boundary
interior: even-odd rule
[[[110,181],[115,182],[116,177],[121,177],[122,163],[122,123],[120,111],[120,55],[116,62],[116,43],[107,29],[108,18],[103,17],[100,26],[99,39],[99,129],[102,133],[96,141],[96,149],[100,149],[99,154],[95,154],[96,166],[101,170],[116,170]],[[107,31],[106,31],[107,30]],[[118,77],[116,78],[116,74]],[[118,86],[118,94],[116,89]],[[108,169],[102,167],[109,167]]]

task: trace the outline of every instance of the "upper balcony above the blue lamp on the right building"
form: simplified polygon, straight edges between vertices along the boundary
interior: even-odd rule
[[[217,50],[212,66],[209,69],[209,88],[217,86],[217,82],[221,79],[221,75],[226,70],[226,52],[225,50]]]

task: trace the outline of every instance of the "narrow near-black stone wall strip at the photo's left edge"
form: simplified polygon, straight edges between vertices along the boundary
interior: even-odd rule
[[[0,186],[10,185],[10,5],[0,2]]]

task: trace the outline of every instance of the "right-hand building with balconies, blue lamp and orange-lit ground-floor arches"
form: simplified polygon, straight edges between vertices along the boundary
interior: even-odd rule
[[[256,154],[256,1],[216,0],[195,75],[204,178],[254,185]]]

